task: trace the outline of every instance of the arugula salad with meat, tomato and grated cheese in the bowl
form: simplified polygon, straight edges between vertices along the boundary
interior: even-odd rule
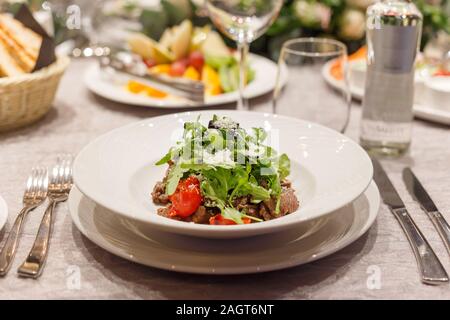
[[[158,214],[210,225],[239,225],[295,212],[299,201],[287,179],[290,159],[265,144],[263,128],[246,131],[214,116],[186,122],[182,138],[156,165],[168,165],[151,193]]]

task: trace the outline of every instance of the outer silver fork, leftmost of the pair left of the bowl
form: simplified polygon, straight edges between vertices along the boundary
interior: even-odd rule
[[[23,222],[27,214],[41,205],[47,198],[48,174],[47,169],[35,167],[27,179],[27,186],[23,194],[23,209],[17,215],[8,238],[0,252],[0,276],[5,276],[11,267]]]

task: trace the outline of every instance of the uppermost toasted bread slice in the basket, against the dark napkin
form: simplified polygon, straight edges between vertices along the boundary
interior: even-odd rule
[[[7,14],[0,14],[0,29],[34,61],[41,48],[42,37]]]

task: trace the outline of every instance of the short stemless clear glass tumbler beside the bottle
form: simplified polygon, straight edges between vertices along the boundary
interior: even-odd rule
[[[351,107],[347,64],[347,47],[339,41],[298,38],[285,42],[278,62],[273,112],[343,133]]]

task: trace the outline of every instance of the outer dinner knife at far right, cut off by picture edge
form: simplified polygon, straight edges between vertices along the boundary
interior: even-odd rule
[[[414,200],[428,214],[428,217],[441,236],[442,241],[444,241],[445,247],[450,254],[450,225],[439,212],[430,195],[422,186],[419,179],[417,179],[414,172],[412,172],[411,168],[405,168],[403,170],[403,181]]]

